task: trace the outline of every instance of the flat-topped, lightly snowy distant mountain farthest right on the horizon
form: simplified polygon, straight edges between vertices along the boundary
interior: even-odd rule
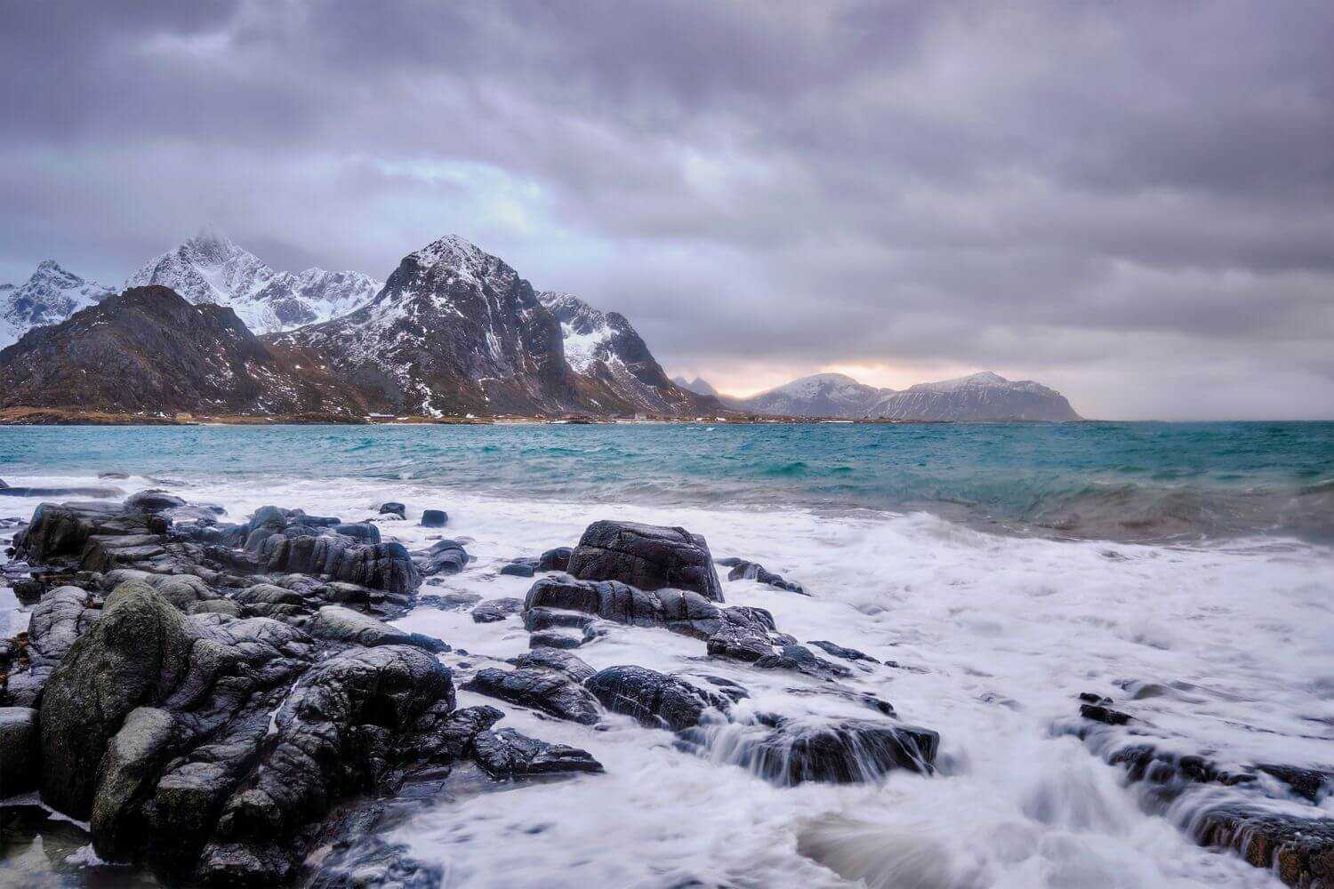
[[[1081,420],[1066,397],[1033,380],[1011,381],[983,371],[956,380],[919,383],[872,405],[884,420]]]

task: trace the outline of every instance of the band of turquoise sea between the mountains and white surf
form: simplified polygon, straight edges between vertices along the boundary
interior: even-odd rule
[[[41,427],[0,478],[384,480],[502,497],[924,510],[1010,533],[1334,540],[1334,423]]]

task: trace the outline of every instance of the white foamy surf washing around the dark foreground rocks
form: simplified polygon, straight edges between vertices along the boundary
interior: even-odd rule
[[[410,548],[442,533],[416,526],[420,510],[444,508],[444,533],[464,540],[475,561],[423,592],[487,598],[522,597],[532,582],[498,576],[504,561],[572,545],[594,520],[683,525],[716,557],[759,561],[812,593],[734,581],[724,584],[728,604],[771,610],[802,642],[832,640],[900,664],[844,684],[940,733],[935,776],[779,788],[734,765],[726,737],[735,726],[719,726],[718,742],[694,754],[624,717],[596,730],[502,702],[502,728],[584,748],[607,772],[442,801],[398,828],[392,838],[442,865],[451,886],[1277,886],[1235,856],[1198,848],[1179,829],[1189,809],[1146,810],[1121,769],[1063,733],[1078,724],[1077,696],[1115,698],[1141,730],[1187,753],[1334,760],[1334,552],[1321,545],[1057,541],[924,513],[494,498],[447,482],[279,477],[175,490],[224,505],[231,520],[265,504],[356,520],[399,500],[410,521],[383,529]],[[36,502],[3,498],[0,516],[29,516]],[[420,608],[399,622],[467,650],[444,656],[456,678],[528,642],[516,618],[479,625],[467,612]],[[819,693],[819,681],[708,660],[702,641],[666,630],[614,628],[578,654],[595,668],[639,664],[734,680],[751,692],[742,721],[748,712],[875,716]],[[1166,693],[1127,700],[1143,684]],[[460,705],[486,701],[460,694]],[[1267,793],[1274,806],[1295,805],[1282,788]],[[1322,805],[1334,817],[1334,802]]]

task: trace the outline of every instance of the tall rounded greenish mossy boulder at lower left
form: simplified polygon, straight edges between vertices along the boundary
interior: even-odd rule
[[[185,616],[147,584],[123,584],[111,594],[41,696],[43,802],[88,820],[107,745],[132,709],[180,681],[191,636]]]

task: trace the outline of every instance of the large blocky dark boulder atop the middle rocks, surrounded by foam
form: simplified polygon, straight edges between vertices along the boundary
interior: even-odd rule
[[[579,580],[615,580],[652,592],[663,588],[723,601],[708,544],[683,528],[624,521],[588,525],[570,556],[570,574]]]

